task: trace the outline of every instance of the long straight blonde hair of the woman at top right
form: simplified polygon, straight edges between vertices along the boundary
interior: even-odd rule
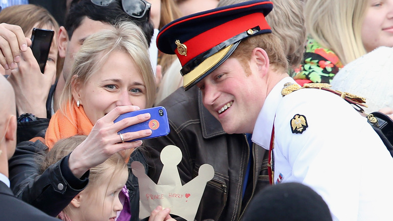
[[[304,6],[306,30],[346,65],[366,53],[361,30],[367,3],[368,0],[308,0]]]

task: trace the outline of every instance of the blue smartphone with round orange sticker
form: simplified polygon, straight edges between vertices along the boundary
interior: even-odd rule
[[[161,136],[166,136],[169,134],[169,122],[168,122],[168,115],[166,113],[166,109],[163,106],[156,106],[152,108],[147,108],[147,109],[141,109],[139,111],[135,112],[128,112],[125,114],[120,115],[116,120],[113,122],[116,123],[118,121],[123,120],[124,118],[129,118],[129,117],[134,117],[140,114],[145,114],[145,113],[150,113],[151,118],[145,122],[135,124],[132,126],[129,126],[127,128],[122,129],[121,131],[117,132],[117,134],[123,134],[127,132],[135,132],[135,131],[140,131],[140,130],[146,130],[146,129],[151,129],[152,134],[148,137],[143,137],[135,140],[130,140],[131,141],[137,141],[137,140],[145,140],[145,139],[150,139],[154,137],[161,137]]]

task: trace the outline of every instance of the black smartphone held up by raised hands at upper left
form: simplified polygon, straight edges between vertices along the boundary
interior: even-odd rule
[[[46,61],[48,60],[50,45],[52,45],[54,31],[33,28],[31,34],[31,50],[40,66],[41,73],[44,73]]]

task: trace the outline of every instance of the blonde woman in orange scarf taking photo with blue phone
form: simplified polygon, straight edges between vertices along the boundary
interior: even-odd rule
[[[57,215],[86,187],[90,168],[119,151],[127,161],[131,151],[126,150],[133,150],[142,141],[125,141],[151,134],[151,130],[117,134],[127,126],[148,120],[150,115],[113,123],[120,114],[153,104],[155,82],[147,48],[143,32],[132,22],[120,22],[86,38],[75,54],[61,105],[49,127],[36,139],[18,144],[10,159],[11,183],[20,198]],[[37,177],[32,156],[77,134],[86,135],[86,140]]]

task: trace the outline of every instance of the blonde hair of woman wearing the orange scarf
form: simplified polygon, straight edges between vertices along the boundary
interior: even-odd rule
[[[146,107],[153,105],[156,85],[145,36],[133,22],[120,21],[113,29],[103,30],[86,38],[81,49],[75,54],[72,74],[65,81],[60,97],[59,108],[63,113],[67,103],[71,107],[75,102],[72,95],[73,85],[76,82],[85,85],[113,51],[126,52],[132,58],[146,86]],[[73,78],[75,75],[77,78]]]

